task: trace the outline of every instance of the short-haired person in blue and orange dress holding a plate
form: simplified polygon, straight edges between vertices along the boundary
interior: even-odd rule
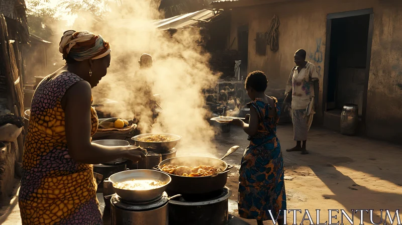
[[[267,84],[264,72],[254,71],[247,76],[245,87],[252,99],[248,103],[249,124],[233,121],[249,135],[250,141],[239,170],[238,207],[241,217],[256,219],[258,225],[271,219],[282,225],[286,194],[282,152],[276,137],[280,108],[276,98],[265,95]]]

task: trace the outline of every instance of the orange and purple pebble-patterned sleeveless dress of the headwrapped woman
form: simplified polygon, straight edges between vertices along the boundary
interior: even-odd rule
[[[68,156],[61,98],[80,80],[70,72],[48,76],[33,96],[19,193],[24,225],[103,224],[93,166]],[[98,121],[92,107],[91,122],[93,135]]]

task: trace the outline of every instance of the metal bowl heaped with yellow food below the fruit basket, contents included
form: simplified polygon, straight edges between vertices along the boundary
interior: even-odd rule
[[[174,148],[181,136],[173,134],[150,133],[137,135],[131,138],[135,145],[152,150],[155,153],[164,153]]]

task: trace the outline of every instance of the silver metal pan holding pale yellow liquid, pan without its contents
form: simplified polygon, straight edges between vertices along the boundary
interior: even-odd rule
[[[165,182],[164,186],[151,189],[151,190],[125,190],[116,188],[113,186],[116,194],[118,194],[124,200],[130,202],[148,202],[162,196],[166,190],[167,185],[171,182],[171,178],[166,173],[156,170],[127,170],[119,173],[115,173],[109,177],[109,180],[114,184],[117,182],[125,182],[132,179],[136,180],[159,180]]]

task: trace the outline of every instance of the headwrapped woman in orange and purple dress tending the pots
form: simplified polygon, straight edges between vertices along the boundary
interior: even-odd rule
[[[19,193],[22,223],[103,224],[91,164],[120,157],[141,160],[137,147],[91,143],[98,121],[91,88],[107,73],[110,45],[89,32],[66,31],[65,66],[35,90]]]

